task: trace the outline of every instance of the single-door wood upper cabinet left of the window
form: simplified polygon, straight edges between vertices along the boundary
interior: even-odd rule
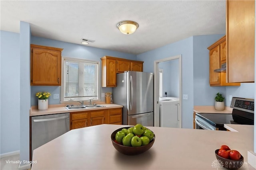
[[[30,85],[61,85],[61,52],[63,49],[30,45]]]

